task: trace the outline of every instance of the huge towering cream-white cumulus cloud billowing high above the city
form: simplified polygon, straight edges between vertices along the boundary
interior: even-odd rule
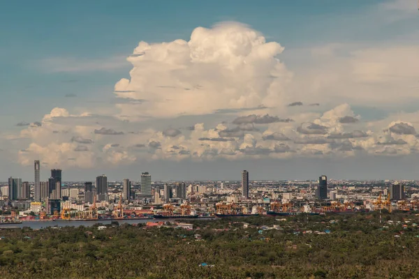
[[[138,117],[277,107],[292,76],[277,59],[283,50],[258,31],[233,22],[198,27],[189,42],[140,42],[128,57],[131,80],[117,82],[115,93],[143,102],[118,107],[122,115]]]

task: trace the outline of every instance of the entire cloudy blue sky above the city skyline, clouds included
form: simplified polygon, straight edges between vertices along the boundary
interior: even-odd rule
[[[419,179],[416,0],[9,1],[0,181]]]

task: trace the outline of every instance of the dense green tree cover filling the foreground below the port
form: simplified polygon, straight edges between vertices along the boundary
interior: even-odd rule
[[[419,278],[414,213],[191,223],[1,229],[0,278]]]

